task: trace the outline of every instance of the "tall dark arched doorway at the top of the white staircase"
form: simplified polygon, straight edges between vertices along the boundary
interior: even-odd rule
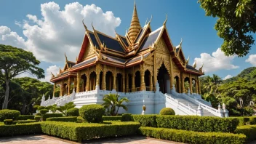
[[[167,68],[165,68],[164,63],[159,68],[159,73],[157,74],[157,81],[159,82],[160,91],[162,93],[170,93],[170,81],[169,73]]]

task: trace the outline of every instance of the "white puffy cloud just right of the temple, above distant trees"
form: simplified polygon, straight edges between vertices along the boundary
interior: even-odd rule
[[[206,73],[219,71],[219,70],[231,70],[239,68],[237,65],[233,65],[232,61],[236,56],[227,57],[218,48],[216,52],[212,52],[212,55],[208,53],[201,53],[200,58],[196,57],[197,68],[201,67],[204,63],[203,70]]]

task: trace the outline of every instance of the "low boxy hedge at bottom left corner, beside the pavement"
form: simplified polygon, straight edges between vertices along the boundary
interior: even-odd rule
[[[28,134],[41,134],[40,123],[0,125],[0,137]]]

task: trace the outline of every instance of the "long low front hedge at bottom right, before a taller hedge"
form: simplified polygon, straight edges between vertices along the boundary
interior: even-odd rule
[[[162,140],[172,140],[181,143],[195,144],[241,144],[245,143],[246,136],[223,132],[193,132],[178,129],[140,127],[140,134]]]

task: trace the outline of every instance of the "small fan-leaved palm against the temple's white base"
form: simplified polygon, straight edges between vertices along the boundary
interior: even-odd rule
[[[108,94],[108,95],[104,95],[103,97],[103,101],[104,103],[102,104],[104,106],[104,108],[106,108],[108,110],[108,113],[111,114],[111,116],[116,116],[117,113],[119,112],[119,108],[124,108],[124,110],[128,110],[127,105],[124,105],[124,102],[129,102],[129,100],[127,99],[127,97],[122,97],[119,100],[119,95],[116,94]],[[116,110],[117,107],[117,110]],[[109,110],[110,108],[110,110]]]

